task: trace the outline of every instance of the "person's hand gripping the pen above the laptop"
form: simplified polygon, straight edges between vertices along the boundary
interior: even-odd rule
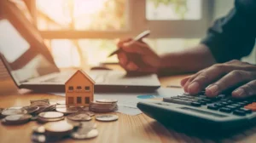
[[[118,54],[119,64],[127,72],[157,72],[160,67],[160,57],[154,53],[147,43],[137,42],[131,38],[120,40]],[[137,56],[131,56],[137,54]]]

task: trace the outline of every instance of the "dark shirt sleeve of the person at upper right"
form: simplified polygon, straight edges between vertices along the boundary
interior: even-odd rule
[[[236,0],[235,8],[216,20],[201,40],[218,63],[251,53],[256,36],[256,0]]]

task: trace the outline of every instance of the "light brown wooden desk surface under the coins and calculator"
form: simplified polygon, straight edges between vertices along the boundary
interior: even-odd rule
[[[163,86],[178,85],[184,76],[161,77],[160,82]],[[20,92],[20,91],[19,91]],[[20,94],[10,79],[0,82],[0,107],[27,106],[29,100],[49,99],[52,101],[64,100],[64,97],[50,94]],[[21,90],[21,92],[23,92]],[[104,142],[104,143],[167,143],[167,142],[255,142],[256,128],[248,129],[241,134],[234,134],[224,138],[219,134],[218,139],[207,137],[189,136],[177,133],[172,129],[166,129],[160,123],[154,121],[144,114],[129,116],[121,113],[119,120],[111,123],[97,122],[99,135],[91,140],[72,140],[67,139],[63,142]],[[0,124],[1,143],[27,143],[31,142],[30,137],[32,127],[37,126],[37,122],[30,122],[18,126],[3,126]],[[255,134],[254,134],[255,133]]]

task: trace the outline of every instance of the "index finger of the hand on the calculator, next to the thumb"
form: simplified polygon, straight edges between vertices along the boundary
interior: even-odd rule
[[[193,81],[189,83],[189,94],[198,94],[202,89],[205,89],[208,84],[215,82],[220,77],[226,74],[228,66],[215,65],[211,66],[204,72],[201,72]]]

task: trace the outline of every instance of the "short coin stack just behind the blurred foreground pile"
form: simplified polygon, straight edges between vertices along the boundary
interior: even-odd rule
[[[64,119],[64,114],[61,112],[41,112],[38,114],[38,122],[55,122]]]

